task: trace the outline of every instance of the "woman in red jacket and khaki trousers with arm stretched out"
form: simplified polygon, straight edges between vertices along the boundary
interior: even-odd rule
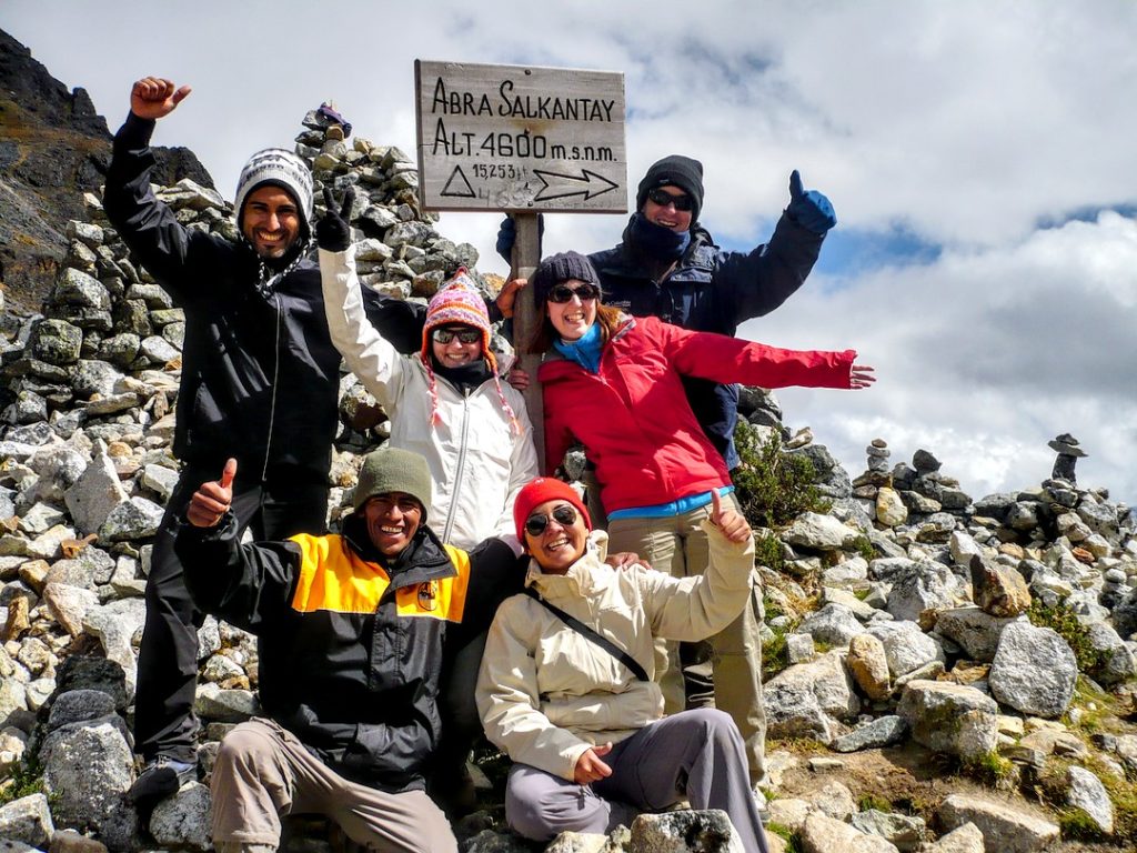
[[[687,401],[683,376],[764,388],[856,389],[874,381],[872,367],[854,364],[852,349],[778,349],[630,317],[600,303],[599,276],[576,252],[547,258],[531,283],[543,315],[530,351],[543,355],[537,375],[545,395],[546,472],[579,440],[596,466],[609,547],[636,552],[677,578],[706,568],[700,522],[712,489],[738,510],[727,465]],[[738,723],[754,781],[763,776],[765,735],[758,612],[755,603],[711,639],[714,704]],[[682,709],[667,698],[669,712]]]

